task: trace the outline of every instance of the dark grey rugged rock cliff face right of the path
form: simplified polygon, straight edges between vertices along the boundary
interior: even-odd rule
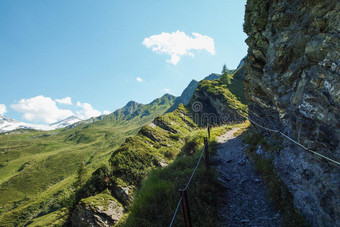
[[[248,0],[244,24],[250,118],[335,160],[340,160],[339,11],[337,0]],[[291,144],[273,163],[313,225],[340,225],[339,166]]]

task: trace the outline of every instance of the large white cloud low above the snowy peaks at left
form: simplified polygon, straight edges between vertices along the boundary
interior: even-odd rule
[[[23,113],[23,118],[28,121],[44,122],[47,124],[73,115],[71,110],[59,109],[54,100],[43,95],[30,99],[21,99],[18,103],[12,104],[11,107]]]

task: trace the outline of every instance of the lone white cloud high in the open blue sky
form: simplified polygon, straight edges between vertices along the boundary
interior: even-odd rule
[[[171,56],[167,62],[176,65],[181,56],[194,56],[191,50],[206,50],[210,54],[215,54],[214,39],[199,33],[192,33],[193,37],[184,32],[176,31],[173,33],[162,32],[160,35],[153,35],[145,38],[143,45],[152,48],[152,51],[165,53]]]

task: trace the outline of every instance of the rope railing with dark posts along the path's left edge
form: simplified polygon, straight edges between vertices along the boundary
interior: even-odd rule
[[[199,157],[199,159],[196,163],[195,169],[192,171],[192,174],[191,174],[187,184],[185,185],[185,188],[179,190],[179,192],[181,193],[181,197],[178,201],[174,215],[172,216],[172,219],[171,219],[171,222],[170,222],[170,225],[169,225],[170,227],[174,224],[175,218],[177,216],[177,213],[178,213],[178,210],[179,210],[179,207],[180,207],[181,204],[182,204],[182,209],[183,209],[185,226],[191,226],[191,218],[190,218],[189,204],[188,204],[188,198],[187,198],[186,191],[188,190],[190,183],[191,183],[191,180],[193,179],[193,177],[194,177],[194,175],[195,175],[195,173],[198,169],[198,166],[199,166],[199,164],[202,160],[202,157],[203,157],[203,153],[205,153],[205,155],[206,155],[206,160],[205,160],[206,161],[206,168],[207,169],[210,168],[208,139],[207,139],[207,138],[210,137],[210,126],[209,125],[207,126],[207,134],[206,135],[207,135],[207,137],[204,138],[204,147],[203,147],[201,155],[200,155],[200,157]]]

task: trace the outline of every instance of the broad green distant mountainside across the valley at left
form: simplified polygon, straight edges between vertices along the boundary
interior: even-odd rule
[[[129,109],[131,113],[122,111],[121,119],[102,116],[55,131],[0,135],[0,223],[27,224],[72,203],[78,166],[84,162],[89,176],[174,99],[165,95],[137,105]]]

